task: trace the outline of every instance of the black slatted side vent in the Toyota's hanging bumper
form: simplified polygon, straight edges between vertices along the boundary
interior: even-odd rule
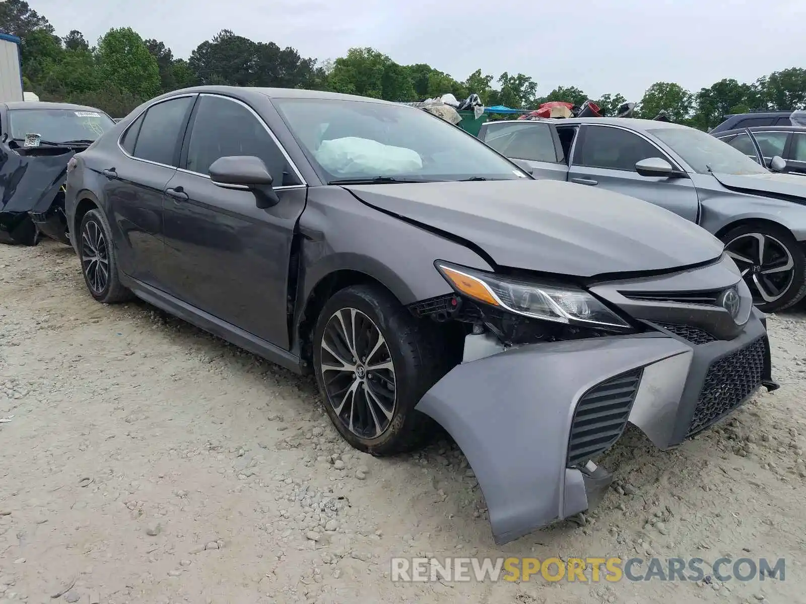
[[[624,432],[642,373],[642,369],[636,369],[617,375],[582,396],[571,421],[569,467],[584,463],[615,444]]]

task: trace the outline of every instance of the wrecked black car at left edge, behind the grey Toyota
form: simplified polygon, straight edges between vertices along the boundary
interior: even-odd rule
[[[0,242],[30,246],[42,233],[69,245],[67,163],[112,126],[95,107],[0,103]]]

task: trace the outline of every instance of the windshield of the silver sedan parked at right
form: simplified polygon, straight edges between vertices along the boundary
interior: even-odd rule
[[[767,168],[731,147],[728,143],[694,128],[654,128],[647,130],[671,147],[699,174],[765,174]]]

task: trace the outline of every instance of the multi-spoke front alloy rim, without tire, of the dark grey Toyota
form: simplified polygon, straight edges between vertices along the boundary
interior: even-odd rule
[[[364,312],[341,308],[330,316],[320,346],[327,403],[347,429],[377,438],[395,413],[395,367],[380,329]]]

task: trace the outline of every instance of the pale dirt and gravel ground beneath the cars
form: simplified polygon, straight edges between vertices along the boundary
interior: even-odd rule
[[[455,445],[358,453],[313,379],[94,302],[65,246],[0,246],[0,602],[806,602],[804,319],[770,317],[779,391],[671,452],[629,431],[584,526],[500,548]],[[390,557],[422,555],[787,566],[724,584],[389,580]]]

